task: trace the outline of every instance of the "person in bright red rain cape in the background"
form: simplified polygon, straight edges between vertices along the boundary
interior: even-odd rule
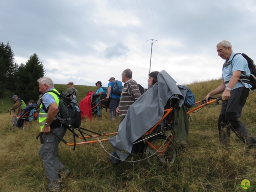
[[[86,92],[85,98],[79,102],[79,108],[81,110],[81,119],[83,118],[92,118],[92,106],[91,106],[91,97],[92,94],[95,94],[92,90]]]

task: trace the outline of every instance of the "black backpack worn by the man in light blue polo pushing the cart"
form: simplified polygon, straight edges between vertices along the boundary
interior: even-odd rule
[[[241,53],[236,53],[233,56],[232,60],[230,61],[231,66],[232,66],[232,61],[233,61],[234,57],[238,54],[241,54]],[[250,84],[252,86],[251,90],[254,90],[254,89],[256,89],[256,65],[254,64],[254,61],[250,57],[248,57],[246,54],[242,53],[241,55],[247,60],[247,64],[250,69],[251,75],[249,77],[248,76],[240,76],[239,81],[242,83]],[[224,66],[225,65],[223,65],[223,68],[224,68]],[[225,82],[225,83],[227,83],[227,82]]]

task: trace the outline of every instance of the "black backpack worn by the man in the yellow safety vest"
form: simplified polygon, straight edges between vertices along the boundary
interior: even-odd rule
[[[65,122],[64,124],[71,128],[79,128],[81,125],[81,114],[73,95],[66,92],[59,94],[54,90],[48,92],[53,92],[60,97],[59,112],[61,120]]]

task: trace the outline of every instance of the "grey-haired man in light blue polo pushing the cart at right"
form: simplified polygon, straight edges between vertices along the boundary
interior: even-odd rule
[[[223,40],[217,44],[218,56],[225,60],[222,68],[222,83],[206,96],[206,101],[216,94],[222,93],[222,108],[218,119],[220,144],[229,144],[230,129],[248,148],[256,149],[256,138],[252,136],[238,118],[249,94],[250,84],[239,81],[240,76],[250,76],[246,59],[232,50],[230,42]],[[234,58],[233,58],[234,57]]]

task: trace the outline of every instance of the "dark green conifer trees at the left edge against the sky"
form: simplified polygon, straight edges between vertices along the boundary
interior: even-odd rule
[[[4,96],[6,90],[10,90],[25,102],[31,99],[37,101],[41,94],[37,80],[45,74],[42,62],[36,53],[31,55],[25,64],[14,61],[9,42],[0,42],[0,97]]]

